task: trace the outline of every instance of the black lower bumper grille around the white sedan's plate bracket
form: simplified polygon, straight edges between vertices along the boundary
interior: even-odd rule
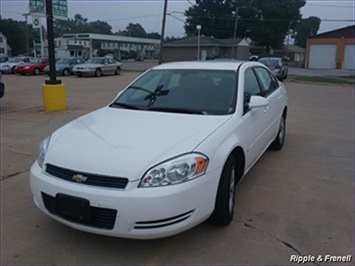
[[[116,210],[90,206],[91,219],[89,221],[80,221],[75,217],[68,217],[62,215],[58,211],[57,199],[55,197],[52,197],[42,192],[42,200],[47,211],[65,220],[79,223],[82,225],[91,226],[91,227],[102,228],[102,229],[113,229],[115,225],[116,215],[117,215]]]

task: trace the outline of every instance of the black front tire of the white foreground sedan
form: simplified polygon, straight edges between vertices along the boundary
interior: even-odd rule
[[[216,225],[228,225],[234,217],[235,188],[237,184],[237,163],[230,155],[219,180],[214,211],[209,221]]]

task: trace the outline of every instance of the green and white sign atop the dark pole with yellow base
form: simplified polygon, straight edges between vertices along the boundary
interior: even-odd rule
[[[30,0],[30,13],[32,16],[45,17],[46,4],[45,0]],[[68,1],[67,0],[52,0],[53,16],[56,19],[68,20]]]

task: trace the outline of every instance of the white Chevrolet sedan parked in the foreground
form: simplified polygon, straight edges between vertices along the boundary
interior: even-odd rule
[[[227,225],[235,186],[285,141],[287,93],[257,62],[156,66],[58,129],[30,173],[35,204],[73,228],[160,238]]]

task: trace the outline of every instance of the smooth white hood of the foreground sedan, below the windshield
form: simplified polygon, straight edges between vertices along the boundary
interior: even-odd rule
[[[134,181],[150,167],[193,151],[230,117],[105,107],[54,132],[45,163]]]

